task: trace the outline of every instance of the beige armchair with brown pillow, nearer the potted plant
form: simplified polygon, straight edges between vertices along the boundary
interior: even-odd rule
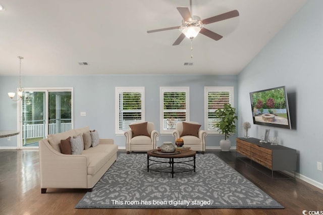
[[[201,125],[197,122],[180,122],[176,123],[173,136],[175,140],[182,138],[184,147],[191,147],[192,150],[205,152],[206,132],[200,129]]]

